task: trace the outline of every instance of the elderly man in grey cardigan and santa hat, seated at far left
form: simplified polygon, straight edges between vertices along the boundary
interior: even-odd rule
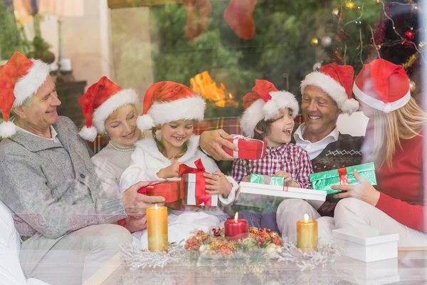
[[[0,67],[0,86],[0,199],[25,240],[23,271],[51,284],[81,284],[132,241],[113,223],[162,201],[137,193],[145,182],[123,195],[101,189],[85,141],[56,113],[60,100],[46,63],[16,52]]]

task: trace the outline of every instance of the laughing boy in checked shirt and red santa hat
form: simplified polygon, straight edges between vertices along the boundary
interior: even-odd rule
[[[273,83],[256,80],[252,93],[243,97],[245,112],[241,118],[243,133],[267,141],[265,157],[259,160],[234,160],[231,177],[248,181],[249,175],[285,177],[288,187],[311,188],[312,165],[307,151],[290,143],[298,103],[289,92],[278,91]],[[275,212],[246,214],[250,226],[278,232]]]

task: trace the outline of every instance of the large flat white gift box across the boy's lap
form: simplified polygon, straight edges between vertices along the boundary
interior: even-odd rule
[[[267,204],[294,198],[305,199],[317,209],[322,202],[325,202],[326,194],[326,191],[320,190],[240,182],[240,194],[235,204],[263,208]]]

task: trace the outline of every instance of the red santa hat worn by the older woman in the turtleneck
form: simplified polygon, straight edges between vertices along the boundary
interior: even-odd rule
[[[102,76],[100,81],[78,98],[78,103],[86,120],[86,125],[79,134],[85,140],[93,142],[97,133],[105,133],[104,122],[112,112],[126,104],[137,104],[138,95],[134,90],[122,89]]]

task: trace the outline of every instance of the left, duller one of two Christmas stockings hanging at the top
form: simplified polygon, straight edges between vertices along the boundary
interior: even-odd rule
[[[212,11],[210,0],[184,0],[187,13],[185,37],[189,41],[197,41],[204,32]]]

